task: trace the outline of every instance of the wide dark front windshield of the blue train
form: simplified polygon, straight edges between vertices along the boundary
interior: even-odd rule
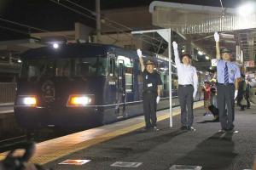
[[[107,58],[26,59],[20,78],[40,80],[42,77],[104,77],[107,75]]]

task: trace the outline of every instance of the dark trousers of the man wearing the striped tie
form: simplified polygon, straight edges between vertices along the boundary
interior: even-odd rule
[[[234,84],[217,86],[219,122],[222,129],[233,129],[235,119],[235,86]]]

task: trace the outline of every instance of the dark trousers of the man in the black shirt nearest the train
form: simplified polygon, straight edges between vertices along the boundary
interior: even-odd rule
[[[143,93],[143,111],[146,128],[156,126],[156,97],[155,93]]]

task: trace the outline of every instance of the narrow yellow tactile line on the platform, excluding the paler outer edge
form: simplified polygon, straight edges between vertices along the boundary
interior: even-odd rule
[[[201,106],[202,106],[202,102],[195,104],[194,108],[198,108],[198,107],[201,107]],[[180,114],[179,110],[172,112],[172,116],[177,116],[178,114]],[[169,118],[168,114],[157,117],[158,122],[163,121],[167,118]],[[49,154],[46,154],[44,156],[34,157],[34,158],[32,158],[32,162],[44,165],[46,163],[49,163],[50,161],[55,161],[55,160],[57,160],[57,159],[59,159],[63,156],[71,155],[76,151],[83,150],[83,149],[88,148],[92,145],[99,144],[99,143],[107,141],[109,139],[113,139],[115,137],[118,137],[119,135],[122,135],[122,134],[125,134],[125,133],[130,133],[130,132],[132,132],[134,130],[137,130],[138,128],[141,128],[141,127],[144,127],[144,126],[145,126],[145,123],[140,122],[140,123],[137,123],[135,125],[131,125],[130,127],[124,127],[122,129],[113,131],[111,133],[106,133],[106,134],[103,134],[103,135],[99,135],[99,136],[95,137],[94,139],[89,139],[89,140],[86,140],[86,141],[81,142],[79,144],[73,144],[71,146],[67,146],[65,149],[57,150],[54,153],[49,153]],[[2,160],[3,158],[4,158],[3,155],[0,156],[0,160]]]

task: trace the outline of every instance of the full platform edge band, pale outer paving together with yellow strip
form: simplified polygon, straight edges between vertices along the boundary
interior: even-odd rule
[[[194,108],[201,107],[202,102],[197,102]],[[180,114],[179,109],[172,111],[173,116]],[[166,111],[158,112],[158,121],[169,118]],[[115,122],[110,125],[96,127],[79,133],[73,133],[57,139],[51,139],[37,144],[35,156],[32,158],[33,163],[44,165],[49,161],[55,161],[62,156],[68,156],[76,151],[83,150],[94,144],[99,144],[108,139],[113,139],[119,135],[130,133],[138,128],[144,127],[143,116],[131,118],[122,122]],[[0,154],[0,160],[6,156],[5,153]]]

